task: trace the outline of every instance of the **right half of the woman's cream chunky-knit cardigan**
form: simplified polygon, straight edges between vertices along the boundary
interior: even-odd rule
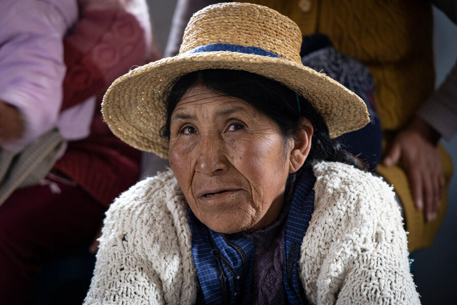
[[[419,304],[391,187],[342,163],[313,170],[314,211],[300,256],[310,303]]]

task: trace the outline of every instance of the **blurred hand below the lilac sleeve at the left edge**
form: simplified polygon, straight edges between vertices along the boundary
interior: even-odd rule
[[[24,124],[16,107],[0,100],[0,145],[22,135]]]

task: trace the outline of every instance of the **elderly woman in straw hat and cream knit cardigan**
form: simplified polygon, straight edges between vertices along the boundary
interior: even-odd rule
[[[276,11],[213,5],[112,84],[112,131],[171,171],[111,205],[86,304],[419,303],[393,192],[332,139],[365,104],[300,44]]]

